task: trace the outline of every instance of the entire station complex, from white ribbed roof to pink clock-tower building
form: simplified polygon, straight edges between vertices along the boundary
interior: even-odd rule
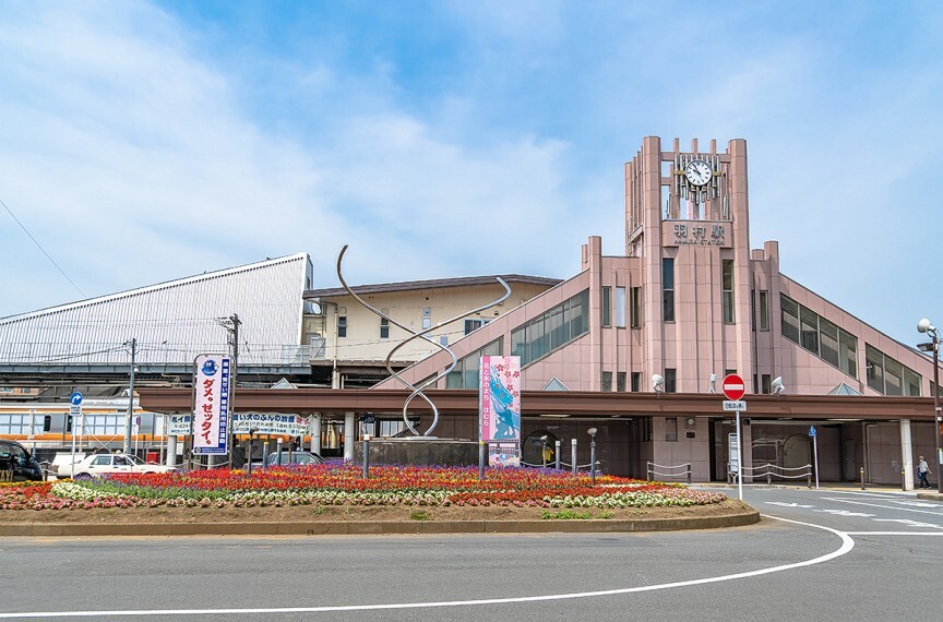
[[[624,187],[622,253],[604,255],[594,236],[574,249],[571,278],[508,275],[513,294],[503,306],[432,335],[458,357],[447,375],[451,357],[428,344],[393,361],[413,384],[441,375],[427,391],[442,414],[435,435],[477,439],[480,356],[515,355],[525,462],[540,462],[546,436],[564,452],[576,440],[586,463],[593,428],[608,473],[644,478],[683,466],[694,481],[723,481],[735,429],[719,384],[736,373],[748,392],[744,466],[801,473],[815,447],[823,481],[912,487],[916,457],[935,453],[933,360],[780,272],[776,241],[753,248],[745,142],[720,151],[714,141],[682,148],[646,137],[624,167]],[[383,362],[406,335],[345,290],[312,288],[313,278],[300,253],[2,319],[0,384],[39,386],[34,406],[82,383],[115,397],[136,334],[146,347],[135,408],[183,412],[188,366],[200,351],[231,348],[238,318],[237,410],[313,415],[306,443],[353,457],[363,433],[402,431],[408,393]],[[354,290],[415,330],[501,292],[494,277]],[[13,397],[0,395],[4,409]],[[0,435],[25,433],[22,409],[15,426],[3,428],[2,415]],[[428,429],[422,405],[410,416]]]

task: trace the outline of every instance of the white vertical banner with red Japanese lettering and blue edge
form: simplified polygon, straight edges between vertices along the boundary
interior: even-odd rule
[[[193,453],[229,451],[229,355],[200,355],[193,361]]]

